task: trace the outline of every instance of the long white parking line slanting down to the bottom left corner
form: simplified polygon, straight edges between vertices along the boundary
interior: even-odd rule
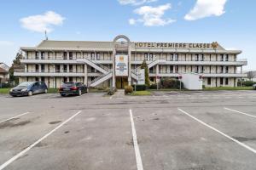
[[[8,161],[5,161],[1,166],[0,166],[0,170],[3,170],[3,168],[7,167],[10,163],[12,163],[13,161],[15,161],[16,159],[18,159],[20,156],[23,156],[28,150],[31,150],[32,147],[34,147],[35,145],[37,145],[38,143],[40,143],[42,140],[46,139],[51,133],[54,133],[58,128],[62,127],[63,125],[65,125],[67,122],[71,121],[75,116],[78,116],[82,111],[77,112],[76,114],[74,114],[73,116],[69,117],[65,122],[62,122],[59,126],[55,127],[52,131],[50,131],[49,133],[45,134],[41,139],[38,139],[38,141],[36,141],[35,143],[31,144],[30,146],[28,146],[25,150],[20,151],[20,153],[18,153],[17,155],[15,155],[14,157],[12,157],[11,159],[9,159]]]

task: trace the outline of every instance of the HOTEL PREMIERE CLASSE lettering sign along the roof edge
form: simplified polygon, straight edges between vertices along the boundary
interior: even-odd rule
[[[212,43],[177,43],[177,42],[134,42],[135,48],[220,48],[218,42]]]

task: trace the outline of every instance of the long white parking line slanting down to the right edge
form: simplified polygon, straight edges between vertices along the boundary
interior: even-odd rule
[[[252,147],[248,146],[247,144],[243,144],[243,143],[239,142],[238,140],[233,139],[233,138],[230,137],[229,135],[227,135],[227,134],[225,134],[225,133],[223,133],[223,132],[220,132],[217,128],[208,125],[206,122],[202,122],[201,120],[199,120],[199,119],[196,118],[195,116],[190,115],[190,114],[189,114],[188,112],[186,112],[186,111],[183,111],[183,110],[181,110],[181,109],[179,109],[179,108],[177,108],[177,110],[183,112],[183,114],[185,114],[185,115],[191,117],[191,118],[194,119],[195,121],[200,122],[201,124],[205,125],[206,127],[211,128],[213,131],[215,131],[215,132],[217,132],[217,133],[223,135],[223,136],[226,137],[227,139],[230,139],[230,140],[232,140],[233,142],[236,142],[236,144],[239,144],[239,145],[241,145],[242,147],[246,148],[247,150],[250,150],[250,151],[252,151],[254,154],[256,154],[256,150],[254,150]]]

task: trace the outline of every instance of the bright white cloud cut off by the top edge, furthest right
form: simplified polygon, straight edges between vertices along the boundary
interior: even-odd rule
[[[220,16],[225,13],[224,5],[227,0],[197,0],[195,7],[186,14],[185,20],[199,20],[209,16]]]

